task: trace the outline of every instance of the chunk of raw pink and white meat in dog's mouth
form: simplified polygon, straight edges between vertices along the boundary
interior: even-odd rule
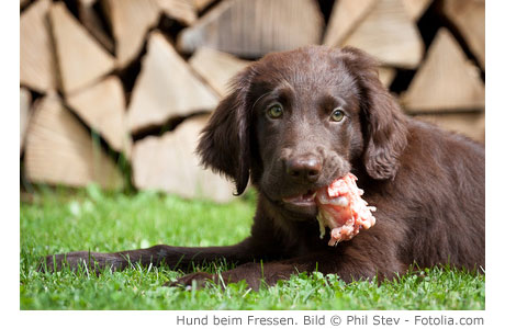
[[[375,224],[375,217],[371,213],[375,207],[368,206],[361,198],[363,190],[358,189],[357,180],[349,172],[316,192],[321,238],[324,237],[326,227],[329,227],[329,246],[350,240],[361,228],[368,229]]]

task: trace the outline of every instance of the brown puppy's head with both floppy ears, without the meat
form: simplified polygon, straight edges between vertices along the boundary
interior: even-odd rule
[[[237,75],[198,152],[244,192],[249,177],[272,203],[317,213],[313,194],[363,163],[392,179],[406,145],[403,115],[375,61],[356,48],[310,46],[263,57]]]

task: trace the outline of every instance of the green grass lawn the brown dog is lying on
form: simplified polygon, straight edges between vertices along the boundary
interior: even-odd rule
[[[345,284],[335,275],[302,273],[251,291],[165,287],[182,275],[133,265],[100,276],[86,269],[40,273],[42,256],[72,250],[117,251],[166,243],[229,245],[249,232],[254,196],[225,205],[172,195],[43,192],[21,204],[21,309],[484,309],[484,276],[450,269],[413,272],[393,282]],[[223,271],[226,264],[204,270]]]

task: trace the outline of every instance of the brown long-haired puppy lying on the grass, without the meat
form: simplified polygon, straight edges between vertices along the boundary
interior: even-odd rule
[[[70,252],[52,268],[90,258],[122,269],[131,262],[238,265],[225,282],[257,288],[318,270],[345,281],[392,277],[409,264],[484,266],[484,148],[407,117],[378,79],[375,61],[355,48],[310,46],[271,54],[235,78],[198,152],[204,166],[258,190],[250,237],[229,247],[155,246],[115,253]],[[377,207],[377,225],[328,247],[319,239],[311,195],[352,172]],[[262,260],[262,262],[260,262]],[[216,281],[192,273],[177,283]]]

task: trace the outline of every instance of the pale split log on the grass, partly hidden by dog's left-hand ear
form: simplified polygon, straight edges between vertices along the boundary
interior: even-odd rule
[[[135,186],[183,197],[204,197],[216,202],[232,200],[233,185],[200,167],[194,154],[199,134],[207,120],[207,115],[187,118],[171,133],[135,143],[132,156]]]

